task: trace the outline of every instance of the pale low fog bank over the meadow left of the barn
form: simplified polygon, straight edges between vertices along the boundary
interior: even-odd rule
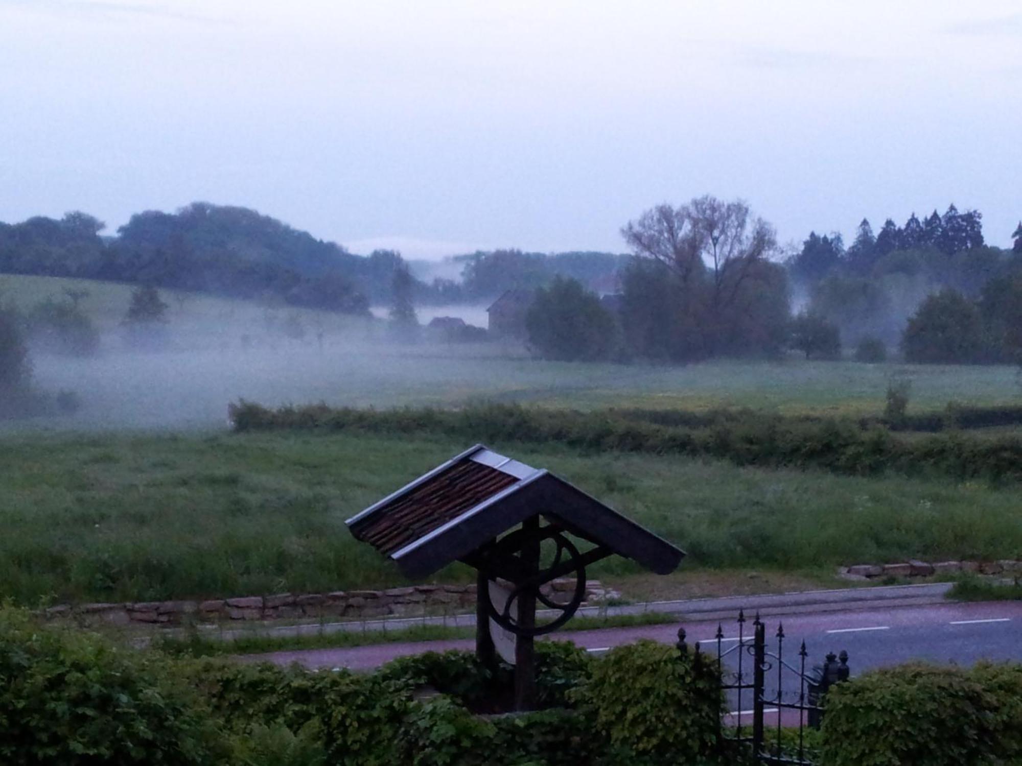
[[[480,306],[458,308],[423,310],[420,321],[454,314],[478,321],[485,314]],[[300,338],[274,329],[282,324],[172,324],[160,351],[130,349],[117,329],[103,334],[95,356],[34,349],[35,386],[49,393],[74,391],[81,408],[71,416],[22,420],[16,427],[221,428],[228,424],[229,402],[239,398],[268,405],[452,403],[508,382],[505,368],[524,357],[514,344],[446,343],[426,328],[419,342],[396,342],[382,322],[349,319],[317,328],[306,319]]]

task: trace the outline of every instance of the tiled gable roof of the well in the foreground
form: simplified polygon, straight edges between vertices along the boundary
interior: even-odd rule
[[[356,539],[424,577],[542,514],[657,574],[685,554],[543,469],[476,444],[347,520]]]

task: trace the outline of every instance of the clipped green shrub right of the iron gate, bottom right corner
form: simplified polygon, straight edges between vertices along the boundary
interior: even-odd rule
[[[1022,756],[1022,667],[925,664],[867,673],[827,697],[823,766],[960,766]]]

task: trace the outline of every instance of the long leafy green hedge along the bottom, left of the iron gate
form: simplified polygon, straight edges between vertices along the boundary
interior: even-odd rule
[[[705,660],[648,643],[606,663],[560,642],[538,651],[552,707],[480,716],[510,669],[490,672],[470,653],[373,673],[181,660],[0,608],[0,763],[624,766],[711,755],[719,691]],[[648,704],[654,692],[661,705]],[[666,718],[677,720],[658,735]]]

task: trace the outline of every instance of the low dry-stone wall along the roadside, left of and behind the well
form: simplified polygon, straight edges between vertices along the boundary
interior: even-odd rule
[[[546,588],[562,592],[568,581]],[[571,587],[574,580],[570,580]],[[45,610],[48,617],[114,625],[180,625],[232,620],[367,620],[380,617],[453,615],[475,609],[475,585],[410,585],[386,590],[335,590],[329,593],[277,593],[207,601],[142,602],[136,604],[62,604]],[[619,597],[598,580],[586,585],[586,602]],[[557,601],[562,601],[557,599]]]

